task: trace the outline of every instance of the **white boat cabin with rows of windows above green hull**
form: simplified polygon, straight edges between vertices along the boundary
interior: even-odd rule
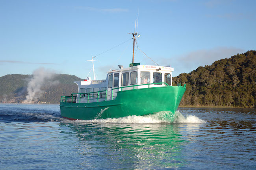
[[[115,99],[118,91],[163,87],[167,86],[165,83],[172,86],[172,72],[174,69],[169,66],[137,65],[128,68],[119,66],[119,68],[119,70],[108,72],[106,80],[87,78],[84,81],[74,81],[78,85],[78,93],[95,92],[89,94],[89,98],[88,94],[78,94],[76,102],[91,103],[112,100]],[[159,84],[143,85],[150,83]]]

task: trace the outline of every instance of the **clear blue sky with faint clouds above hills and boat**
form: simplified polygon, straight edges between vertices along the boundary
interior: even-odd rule
[[[139,48],[171,65],[173,76],[189,73],[256,50],[255,6],[255,0],[0,0],[0,76],[44,67],[85,78],[92,68],[86,60],[97,55],[96,76],[105,79],[132,61],[128,33],[138,12]],[[135,62],[154,65],[139,50]]]

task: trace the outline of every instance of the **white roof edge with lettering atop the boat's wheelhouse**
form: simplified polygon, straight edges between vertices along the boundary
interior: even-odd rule
[[[161,68],[161,70],[163,70],[163,71],[173,71],[174,70],[172,67],[168,67],[168,66],[138,65],[138,66],[134,66],[134,67],[127,67],[127,68],[122,68],[122,69],[118,69],[118,70],[112,70],[107,73],[120,72],[120,71],[126,71],[126,70],[137,70],[137,69],[156,70],[159,68]]]

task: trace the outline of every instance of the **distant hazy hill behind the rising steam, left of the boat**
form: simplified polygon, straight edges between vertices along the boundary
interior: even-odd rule
[[[10,74],[0,77],[0,102],[20,103],[26,100],[28,95],[28,83],[32,75]],[[40,86],[41,93],[32,103],[59,103],[60,96],[77,92],[77,85],[73,81],[83,79],[68,74],[54,74],[51,85],[49,82]],[[35,82],[36,83],[36,82]]]

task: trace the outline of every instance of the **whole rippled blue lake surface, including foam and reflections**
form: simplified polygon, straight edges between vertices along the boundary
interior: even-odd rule
[[[70,121],[59,105],[0,104],[0,169],[256,168],[256,109],[168,115]]]

